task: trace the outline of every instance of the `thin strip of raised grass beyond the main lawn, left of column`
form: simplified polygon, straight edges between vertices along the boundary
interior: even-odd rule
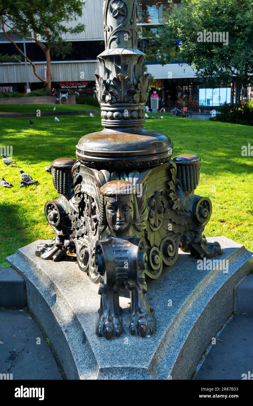
[[[35,113],[37,110],[41,112],[53,111],[56,107],[57,111],[75,111],[75,110],[95,110],[99,111],[97,107],[88,106],[87,104],[0,104],[0,112],[8,113]]]

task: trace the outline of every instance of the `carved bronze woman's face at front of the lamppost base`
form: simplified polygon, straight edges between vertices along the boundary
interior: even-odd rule
[[[130,228],[134,214],[131,200],[131,196],[122,196],[121,201],[106,197],[106,218],[111,229],[122,232]]]

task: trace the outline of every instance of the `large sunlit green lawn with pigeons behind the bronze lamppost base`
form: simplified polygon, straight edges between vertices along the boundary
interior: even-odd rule
[[[12,189],[0,188],[0,266],[7,266],[5,257],[19,247],[54,236],[43,208],[58,194],[44,168],[55,158],[75,157],[79,138],[102,128],[100,115],[95,119],[63,116],[59,123],[54,117],[35,117],[33,121],[31,126],[29,119],[0,119],[0,145],[12,145],[13,160],[18,163],[8,168],[0,161],[0,176],[14,185]],[[174,143],[174,155],[195,153],[201,157],[197,193],[210,197],[213,203],[205,234],[225,235],[253,250],[253,157],[241,155],[242,145],[247,141],[253,145],[253,127],[170,114],[163,120],[147,120],[146,127],[167,133]],[[39,184],[21,189],[20,169]]]

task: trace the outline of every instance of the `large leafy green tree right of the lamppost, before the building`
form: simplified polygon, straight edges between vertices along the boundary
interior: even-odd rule
[[[252,0],[184,0],[166,17],[159,39],[163,64],[170,61],[168,50],[176,47],[177,58],[191,65],[199,77],[228,83],[235,75],[245,85],[249,83],[253,74]],[[227,45],[223,40],[214,42],[208,32],[224,33],[223,39],[228,35]]]

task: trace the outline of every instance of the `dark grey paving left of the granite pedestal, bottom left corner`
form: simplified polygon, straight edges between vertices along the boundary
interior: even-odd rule
[[[63,379],[28,311],[0,309],[0,374],[12,374],[13,380]]]

